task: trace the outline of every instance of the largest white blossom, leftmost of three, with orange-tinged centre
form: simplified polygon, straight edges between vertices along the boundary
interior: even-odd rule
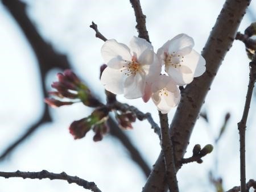
[[[106,62],[101,82],[114,94],[124,94],[127,99],[143,97],[145,102],[152,95],[152,82],[158,78],[161,64],[150,43],[133,37],[130,48],[116,40],[107,40],[101,48]]]

